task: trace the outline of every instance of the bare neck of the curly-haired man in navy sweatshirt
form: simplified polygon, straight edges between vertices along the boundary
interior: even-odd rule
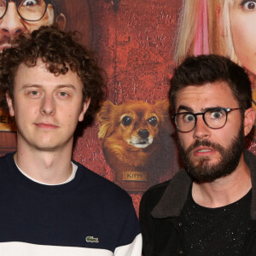
[[[19,147],[15,162],[26,175],[41,183],[63,183],[72,174],[72,143],[69,147],[44,151]]]

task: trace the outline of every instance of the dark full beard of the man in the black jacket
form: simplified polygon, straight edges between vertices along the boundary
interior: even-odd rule
[[[224,148],[218,143],[211,143],[210,141],[196,141],[190,145],[188,149],[184,149],[180,140],[177,140],[178,147],[181,151],[183,162],[189,176],[197,183],[210,183],[219,177],[226,177],[236,170],[239,164],[241,154],[244,148],[245,137],[243,133],[243,125],[239,129],[238,135],[233,138],[230,145]],[[211,158],[201,157],[200,160],[193,160],[190,154],[193,154],[193,149],[199,146],[207,146],[216,149],[220,154],[220,159],[215,164],[210,164]]]

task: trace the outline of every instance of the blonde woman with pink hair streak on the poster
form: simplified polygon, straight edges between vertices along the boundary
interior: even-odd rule
[[[189,25],[188,20],[193,20]],[[256,109],[256,3],[221,0],[183,1],[177,37],[176,63],[187,55],[227,55],[247,69],[252,80],[253,108]],[[255,134],[254,124],[254,137]]]

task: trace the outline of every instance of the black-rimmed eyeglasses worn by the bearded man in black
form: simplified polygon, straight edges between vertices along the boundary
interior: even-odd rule
[[[210,108],[202,113],[180,112],[172,115],[177,131],[189,132],[195,128],[197,116],[202,115],[206,125],[212,129],[224,127],[227,122],[228,114],[241,108]]]

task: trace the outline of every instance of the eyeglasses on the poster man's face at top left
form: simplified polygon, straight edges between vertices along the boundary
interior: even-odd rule
[[[48,0],[0,0],[0,19],[6,14],[9,2],[15,2],[16,10],[23,20],[41,20],[46,12]]]

